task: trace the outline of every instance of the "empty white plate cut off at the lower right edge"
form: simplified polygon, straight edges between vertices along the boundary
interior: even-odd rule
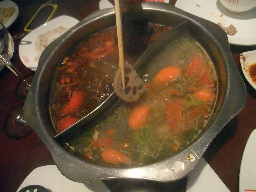
[[[256,130],[245,146],[240,167],[239,191],[256,191]]]

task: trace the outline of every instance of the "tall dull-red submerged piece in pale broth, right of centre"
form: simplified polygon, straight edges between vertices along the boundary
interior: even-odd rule
[[[178,124],[182,118],[182,107],[184,100],[179,99],[173,103],[167,104],[166,117],[167,123],[170,126],[172,132],[177,132]]]

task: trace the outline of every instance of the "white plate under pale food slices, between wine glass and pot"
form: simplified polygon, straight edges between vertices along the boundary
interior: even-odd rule
[[[38,62],[35,62],[34,59],[39,54],[38,51],[36,51],[36,42],[39,35],[45,34],[48,31],[59,28],[60,26],[70,29],[78,23],[79,20],[63,15],[52,19],[44,25],[41,25],[40,27],[31,31],[20,41],[19,45],[19,57],[23,64],[29,69],[36,71]]]

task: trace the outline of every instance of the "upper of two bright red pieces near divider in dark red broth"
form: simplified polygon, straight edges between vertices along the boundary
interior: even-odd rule
[[[66,116],[76,111],[76,109],[82,105],[83,98],[84,96],[81,92],[74,93],[69,103],[62,109],[61,114]]]

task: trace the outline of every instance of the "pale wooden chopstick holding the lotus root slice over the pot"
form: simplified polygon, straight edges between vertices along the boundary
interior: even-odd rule
[[[121,68],[122,85],[125,90],[125,73],[124,73],[124,48],[123,48],[123,34],[122,34],[122,6],[120,0],[115,0],[115,18],[119,49],[119,67]]]

